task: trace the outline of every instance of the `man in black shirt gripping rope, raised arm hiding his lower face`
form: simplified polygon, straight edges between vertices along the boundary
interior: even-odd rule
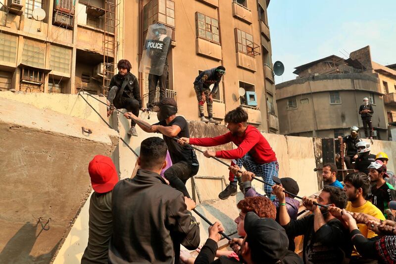
[[[272,189],[280,204],[284,205],[285,189],[280,185],[274,185]],[[313,204],[317,202],[344,209],[347,201],[348,197],[342,189],[325,186],[317,200],[303,197],[303,205],[312,213],[301,219],[291,220],[286,207],[279,207],[279,223],[286,233],[289,236],[304,235],[302,259],[305,264],[349,263],[347,259],[350,258],[352,245],[347,229],[326,208]]]

